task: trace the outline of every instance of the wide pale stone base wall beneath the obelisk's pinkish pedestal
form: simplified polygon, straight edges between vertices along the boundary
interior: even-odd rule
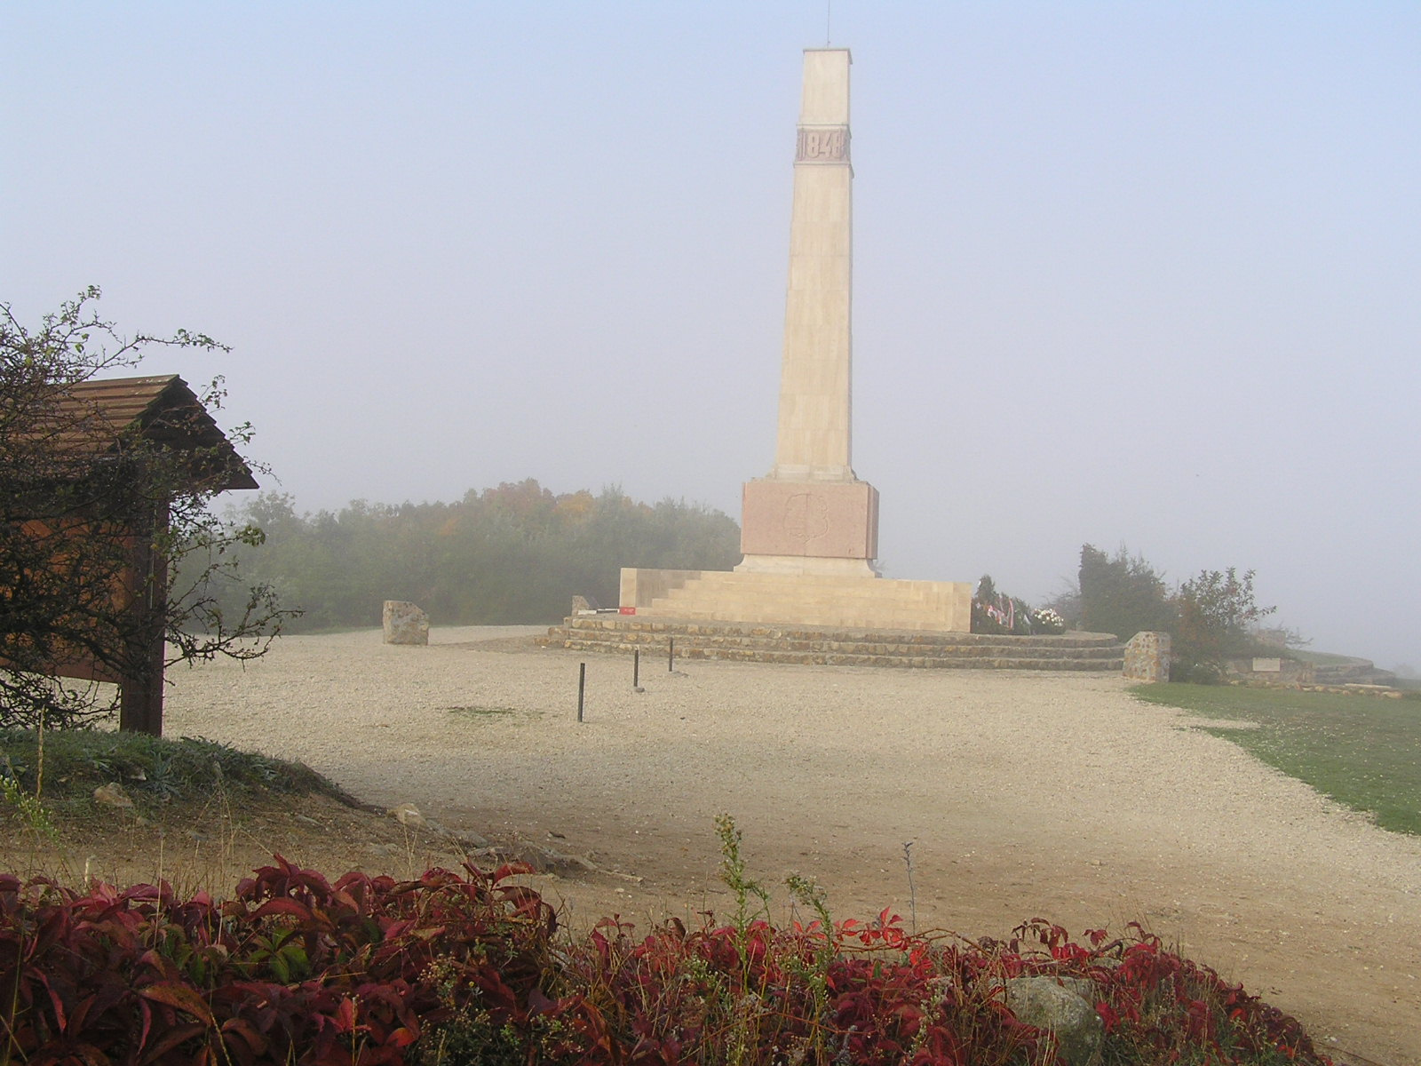
[[[651,618],[971,632],[972,586],[872,574],[628,567],[621,571],[621,610]]]

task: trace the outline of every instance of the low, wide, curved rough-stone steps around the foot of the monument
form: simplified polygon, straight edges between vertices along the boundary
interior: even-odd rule
[[[678,659],[796,662],[828,667],[1067,669],[1118,674],[1124,647],[1113,634],[998,637],[978,632],[865,630],[587,614],[564,620],[539,644],[568,651],[665,655]]]

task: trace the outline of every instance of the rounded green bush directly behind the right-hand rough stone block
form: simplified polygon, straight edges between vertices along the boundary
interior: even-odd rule
[[[1229,658],[1256,651],[1253,627],[1275,607],[1253,598],[1253,571],[1235,567],[1201,570],[1175,594],[1178,621],[1171,650],[1171,678],[1216,681]]]

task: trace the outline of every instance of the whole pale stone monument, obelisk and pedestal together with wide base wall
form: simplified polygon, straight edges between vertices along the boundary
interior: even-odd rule
[[[965,581],[878,574],[878,492],[858,480],[850,456],[854,171],[847,48],[806,48],[794,145],[779,435],[774,466],[745,485],[745,559],[733,571],[624,567],[618,607],[638,617],[601,620],[604,630],[652,632],[658,618],[693,623],[701,635],[701,627],[720,624],[871,632],[972,627],[972,586]]]

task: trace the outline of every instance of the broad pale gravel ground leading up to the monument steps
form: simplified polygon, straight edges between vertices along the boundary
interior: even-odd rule
[[[811,874],[838,917],[915,908],[972,937],[1141,921],[1323,1049],[1421,1063],[1421,840],[1118,678],[645,658],[637,694],[630,659],[507,640],[530,632],[286,637],[244,669],[172,671],[166,732],[641,878],[560,883],[574,920],[723,908],[712,817],[729,812],[767,885]]]

